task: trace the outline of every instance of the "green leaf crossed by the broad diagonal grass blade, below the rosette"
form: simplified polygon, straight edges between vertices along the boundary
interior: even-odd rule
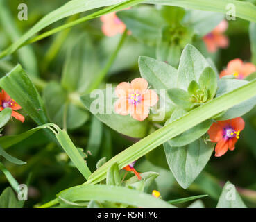
[[[165,124],[167,125],[173,121],[176,121],[176,119],[179,119],[185,114],[186,112],[184,110],[176,109],[171,115],[171,118],[168,119]],[[200,123],[197,126],[191,128],[190,130],[187,130],[185,133],[169,139],[168,144],[169,146],[175,147],[186,146],[187,144],[190,144],[191,142],[194,142],[196,139],[199,139],[200,137],[205,135],[205,133],[207,133],[207,130],[209,130],[210,126],[212,126],[212,120],[208,119],[203,123]]]

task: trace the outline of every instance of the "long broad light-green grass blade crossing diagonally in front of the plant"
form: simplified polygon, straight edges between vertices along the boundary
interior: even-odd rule
[[[234,105],[253,98],[253,96],[256,96],[255,87],[256,80],[253,80],[238,89],[234,89],[232,92],[201,105],[191,112],[188,112],[180,119],[156,130],[144,139],[140,139],[139,142],[122,151],[106,162],[102,167],[94,171],[86,184],[94,184],[104,180],[108,167],[110,167],[114,162],[117,162],[117,164],[119,164],[119,169],[121,169],[130,162],[138,160],[140,157],[146,155],[146,153],[149,153],[157,146],[167,142],[167,140],[172,139],[203,121],[214,117],[216,114],[223,112],[223,110],[228,110]]]

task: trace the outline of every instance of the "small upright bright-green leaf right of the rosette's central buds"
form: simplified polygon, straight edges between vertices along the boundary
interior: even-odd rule
[[[211,67],[206,67],[199,78],[201,89],[207,89],[208,100],[214,99],[217,90],[217,76]]]

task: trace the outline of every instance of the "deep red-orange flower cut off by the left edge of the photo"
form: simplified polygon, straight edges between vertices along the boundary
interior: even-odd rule
[[[15,117],[19,121],[22,121],[22,123],[24,122],[24,116],[22,116],[22,114],[19,114],[18,112],[13,111],[22,109],[20,105],[16,103],[13,99],[11,99],[4,90],[2,90],[2,92],[0,92],[0,111],[2,111],[4,108],[11,108],[12,117]]]

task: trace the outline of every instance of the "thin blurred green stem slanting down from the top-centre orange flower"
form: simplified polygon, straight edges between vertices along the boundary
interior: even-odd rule
[[[117,48],[114,50],[114,53],[112,53],[112,56],[109,58],[107,64],[105,65],[104,69],[100,72],[99,75],[97,75],[96,79],[94,80],[94,83],[92,83],[92,86],[87,90],[87,93],[92,92],[92,90],[99,87],[105,76],[108,74],[109,69],[111,68],[112,64],[114,63],[114,60],[117,58],[117,54],[119,53],[119,50],[121,49],[121,46],[123,46],[123,42],[126,40],[128,30],[126,29],[123,32],[123,35],[121,36],[121,39],[119,40],[119,43],[117,44]]]

